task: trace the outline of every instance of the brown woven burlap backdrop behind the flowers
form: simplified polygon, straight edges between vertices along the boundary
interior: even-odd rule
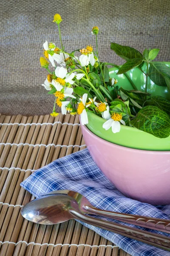
[[[95,46],[91,28],[98,26],[99,55],[122,64],[110,50],[110,41],[143,50],[161,49],[159,61],[170,61],[170,2],[168,0],[5,0],[0,3],[0,112],[46,114],[53,96],[41,86],[42,44],[59,44],[53,15],[62,16],[62,39],[71,51]]]

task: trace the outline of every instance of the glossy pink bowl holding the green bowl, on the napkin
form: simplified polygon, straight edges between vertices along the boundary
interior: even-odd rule
[[[170,204],[170,151],[126,148],[81,125],[94,162],[127,197],[149,204]]]

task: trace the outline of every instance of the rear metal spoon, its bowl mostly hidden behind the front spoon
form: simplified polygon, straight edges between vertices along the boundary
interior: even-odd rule
[[[52,194],[65,194],[65,195],[71,196],[79,204],[79,209],[81,210],[82,213],[88,213],[91,215],[100,215],[100,216],[115,219],[117,221],[130,223],[136,226],[146,227],[153,230],[159,230],[161,232],[170,233],[170,220],[144,217],[140,215],[126,214],[121,212],[110,212],[110,211],[97,209],[83,195],[71,190],[56,190],[52,192],[47,192],[43,195],[52,195]]]

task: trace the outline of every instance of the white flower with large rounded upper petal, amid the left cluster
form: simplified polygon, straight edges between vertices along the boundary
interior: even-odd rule
[[[75,73],[71,73],[70,75],[67,74],[67,69],[64,67],[57,67],[55,70],[55,75],[57,76],[57,78],[62,79],[63,81],[63,85],[65,83],[70,83],[70,84],[74,84],[74,81],[72,80],[75,76]]]

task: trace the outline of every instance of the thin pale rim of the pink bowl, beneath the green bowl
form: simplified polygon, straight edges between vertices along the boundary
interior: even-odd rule
[[[96,137],[96,139],[98,140],[102,140],[103,143],[105,143],[106,145],[114,145],[114,147],[125,150],[126,148],[130,151],[139,151],[141,154],[145,154],[147,152],[147,154],[170,154],[170,151],[152,151],[152,150],[145,150],[145,149],[137,149],[137,148],[128,148],[125,146],[121,146],[121,145],[117,145],[115,143],[109,142],[107,140],[102,139],[101,137],[97,136],[96,134],[94,134],[93,132],[91,132],[88,127],[86,125],[82,125],[81,122],[81,118],[79,117],[79,121],[80,121],[80,125],[82,128],[82,135],[83,135],[83,130],[85,130],[86,132],[88,132],[90,135]],[[83,135],[84,136],[84,135]],[[88,148],[88,147],[87,147]]]

